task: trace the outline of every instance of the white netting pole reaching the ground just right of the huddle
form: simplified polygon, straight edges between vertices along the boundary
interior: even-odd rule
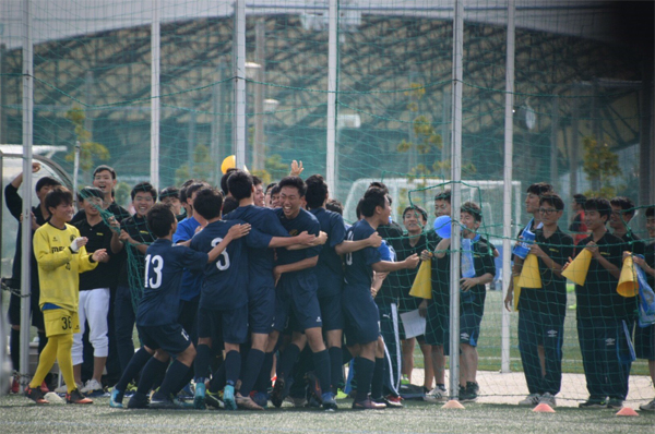
[[[460,207],[462,206],[462,80],[464,53],[464,3],[455,0],[453,16],[453,116],[452,116],[452,150],[451,150],[451,180],[452,204],[451,218],[453,222],[460,221]],[[460,397],[460,240],[461,227],[452,226],[451,232],[451,279],[450,279],[450,394],[451,399]]]

